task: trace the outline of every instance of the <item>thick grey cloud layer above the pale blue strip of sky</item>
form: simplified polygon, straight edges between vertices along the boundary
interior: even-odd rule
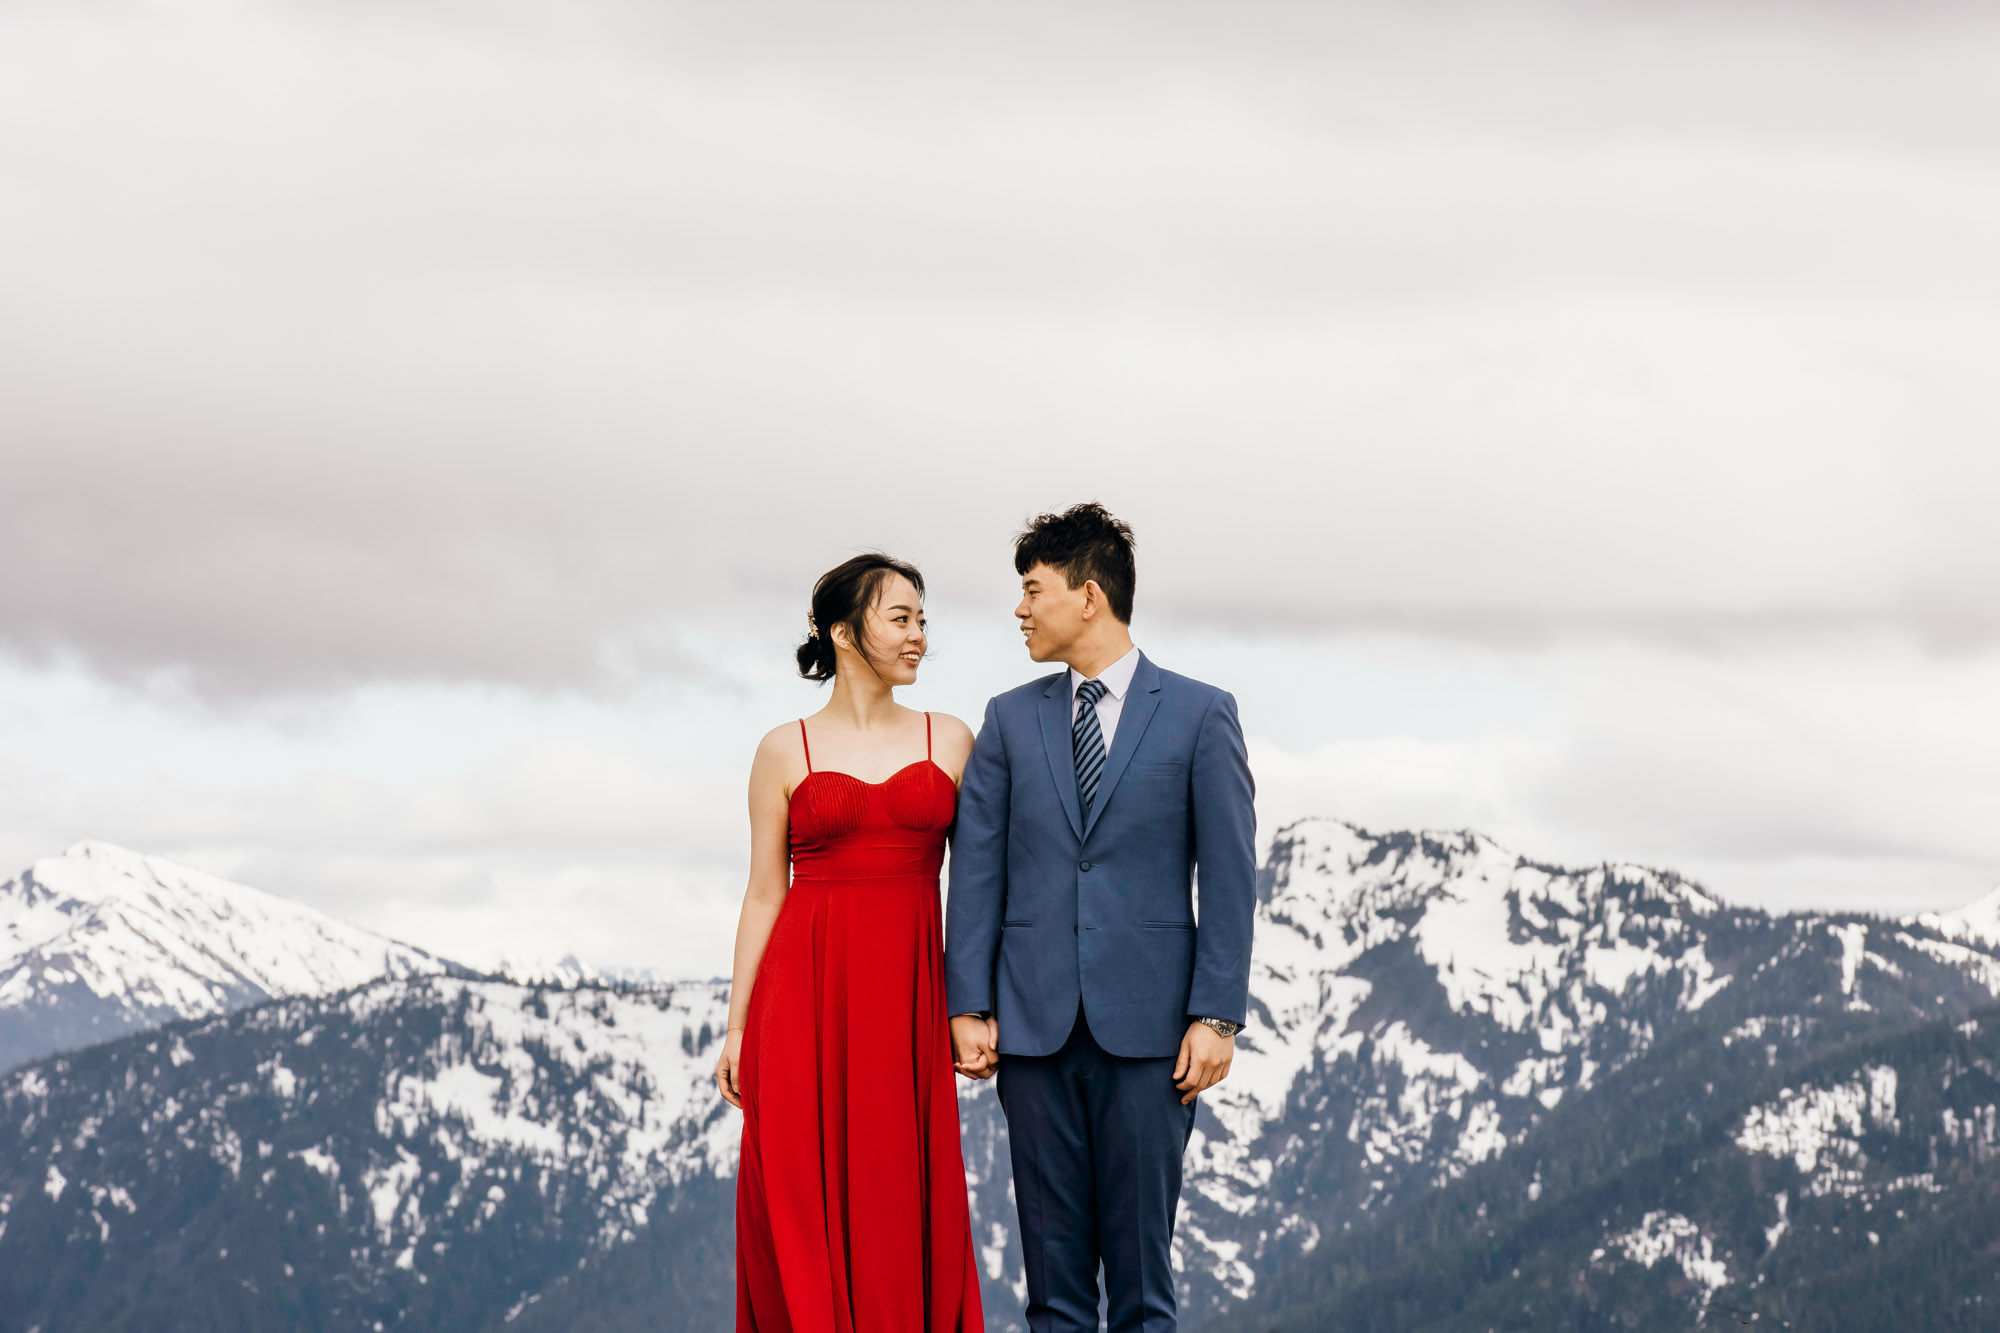
[[[674,671],[858,544],[1148,614],[1990,642],[1972,10],[20,6],[0,642]]]

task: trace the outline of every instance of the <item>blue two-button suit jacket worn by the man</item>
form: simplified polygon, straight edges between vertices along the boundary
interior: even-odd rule
[[[1256,815],[1236,701],[1140,654],[1084,819],[1070,673],[986,705],[958,789],[944,989],[1004,1055],[1076,1023],[1112,1055],[1180,1051],[1190,1017],[1244,1021]],[[1194,869],[1200,865],[1200,925]]]

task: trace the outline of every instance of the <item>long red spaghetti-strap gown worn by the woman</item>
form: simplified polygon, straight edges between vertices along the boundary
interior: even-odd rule
[[[738,1071],[738,1333],[984,1329],[938,909],[958,789],[924,731],[886,783],[814,773],[808,745],[792,793]]]

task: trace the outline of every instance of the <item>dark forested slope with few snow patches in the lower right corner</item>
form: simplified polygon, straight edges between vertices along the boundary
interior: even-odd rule
[[[1844,1009],[1842,1025],[1868,1027]],[[1290,1299],[1244,1333],[1710,1327],[1794,1333],[1992,1329],[2000,1307],[2000,1007],[1848,1031],[1776,1065],[1664,1141],[1624,1135],[1680,1083],[1770,1061],[1774,1027],[1648,1057],[1594,1123],[1432,1191],[1396,1223],[1274,1275]],[[1678,1079],[1676,1079],[1678,1071]],[[1606,1097],[1608,1095],[1608,1097]],[[1686,1103],[1682,1103],[1682,1109]],[[1564,1181],[1568,1177],[1568,1181]],[[1398,1235],[1400,1233],[1400,1235]]]

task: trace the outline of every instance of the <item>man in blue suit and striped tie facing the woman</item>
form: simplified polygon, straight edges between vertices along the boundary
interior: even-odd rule
[[[1256,817],[1236,701],[1132,646],[1132,528],[1100,504],[1014,544],[1028,656],[958,793],[946,1005],[958,1071],[1000,1075],[1028,1329],[1172,1333],[1194,1099],[1250,989]],[[1194,871],[1200,867],[1200,917]]]

